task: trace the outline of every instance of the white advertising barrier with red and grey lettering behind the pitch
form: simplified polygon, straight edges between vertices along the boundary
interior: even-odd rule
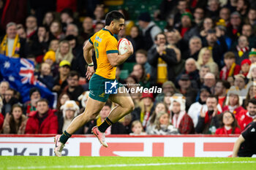
[[[0,155],[53,156],[54,135],[0,135]],[[73,135],[63,155],[137,157],[230,157],[238,135],[107,136],[108,148],[93,135]]]

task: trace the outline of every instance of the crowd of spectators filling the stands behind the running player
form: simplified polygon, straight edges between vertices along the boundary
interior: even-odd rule
[[[86,108],[83,45],[104,28],[108,8],[88,1],[83,13],[80,1],[17,2],[31,6],[28,15],[26,5],[18,10],[15,2],[0,2],[0,53],[31,60],[37,80],[58,95],[50,108],[31,88],[30,101],[22,103],[18,90],[2,80],[0,133],[61,134]],[[15,9],[19,16],[10,14]],[[119,12],[127,21],[118,38],[129,39],[135,53],[118,66],[116,79],[129,89],[157,87],[162,93],[131,93],[135,109],[106,134],[241,134],[256,118],[255,1],[162,0],[154,17],[141,12],[137,20],[129,20],[132,11]],[[158,20],[166,21],[165,28]],[[133,68],[123,79],[125,64]],[[90,134],[113,107],[108,101],[75,134]]]

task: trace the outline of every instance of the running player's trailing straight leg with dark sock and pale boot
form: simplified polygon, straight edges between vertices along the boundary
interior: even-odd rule
[[[104,105],[105,102],[94,100],[91,97],[88,98],[85,111],[72,120],[72,123],[70,123],[67,130],[64,131],[62,135],[57,135],[55,137],[56,146],[54,152],[56,156],[61,156],[61,151],[69,137],[71,137],[82,125],[95,119]]]

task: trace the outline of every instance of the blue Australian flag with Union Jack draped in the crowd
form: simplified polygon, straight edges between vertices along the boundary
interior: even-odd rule
[[[25,58],[9,58],[0,54],[0,81],[6,80],[10,87],[18,90],[22,96],[23,103],[29,101],[29,90],[38,88],[42,98],[49,101],[53,107],[55,95],[42,82],[34,77],[34,63]]]

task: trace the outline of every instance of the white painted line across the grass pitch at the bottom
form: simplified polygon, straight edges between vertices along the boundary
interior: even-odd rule
[[[224,164],[224,163],[256,163],[256,161],[229,161],[229,162],[177,162],[177,163],[140,163],[140,164],[110,164],[110,165],[71,165],[71,166],[12,166],[7,169],[93,169],[108,167],[129,167],[129,166],[170,166],[170,165],[200,165],[200,164]]]

